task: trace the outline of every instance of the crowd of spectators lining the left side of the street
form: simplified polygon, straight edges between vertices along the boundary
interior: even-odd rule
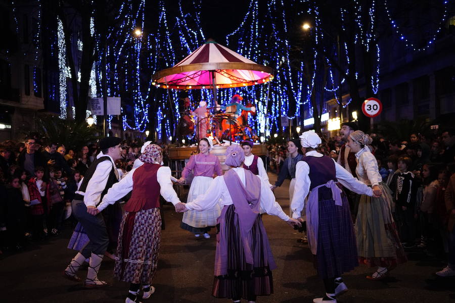
[[[122,141],[121,175],[132,169],[142,144]],[[99,153],[97,142],[67,147],[38,133],[0,143],[0,254],[73,227],[71,200]]]

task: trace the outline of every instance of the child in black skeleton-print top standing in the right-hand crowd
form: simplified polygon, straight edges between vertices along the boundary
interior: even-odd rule
[[[416,240],[415,229],[415,179],[414,174],[408,171],[412,165],[409,157],[398,158],[398,170],[392,182],[392,191],[395,197],[396,216],[400,239],[404,248],[413,248]]]

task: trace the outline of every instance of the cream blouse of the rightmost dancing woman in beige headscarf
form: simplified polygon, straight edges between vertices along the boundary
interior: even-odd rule
[[[358,159],[355,173],[359,181],[375,186],[382,182],[381,174],[379,173],[378,161],[367,146],[360,149],[355,157]]]

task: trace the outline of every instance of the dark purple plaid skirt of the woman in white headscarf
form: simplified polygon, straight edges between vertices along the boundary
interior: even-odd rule
[[[339,277],[358,266],[357,244],[346,195],[342,206],[319,201],[319,232],[315,267],[323,279]]]

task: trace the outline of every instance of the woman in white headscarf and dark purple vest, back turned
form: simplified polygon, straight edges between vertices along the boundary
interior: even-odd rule
[[[296,166],[292,216],[303,221],[301,213],[306,210],[308,244],[326,288],[326,295],[313,302],[336,303],[336,297],[347,290],[341,275],[358,266],[349,203],[336,182],[358,194],[371,196],[373,190],[335,160],[319,153],[316,149],[321,138],[314,131],[304,132],[300,143],[305,157]]]

